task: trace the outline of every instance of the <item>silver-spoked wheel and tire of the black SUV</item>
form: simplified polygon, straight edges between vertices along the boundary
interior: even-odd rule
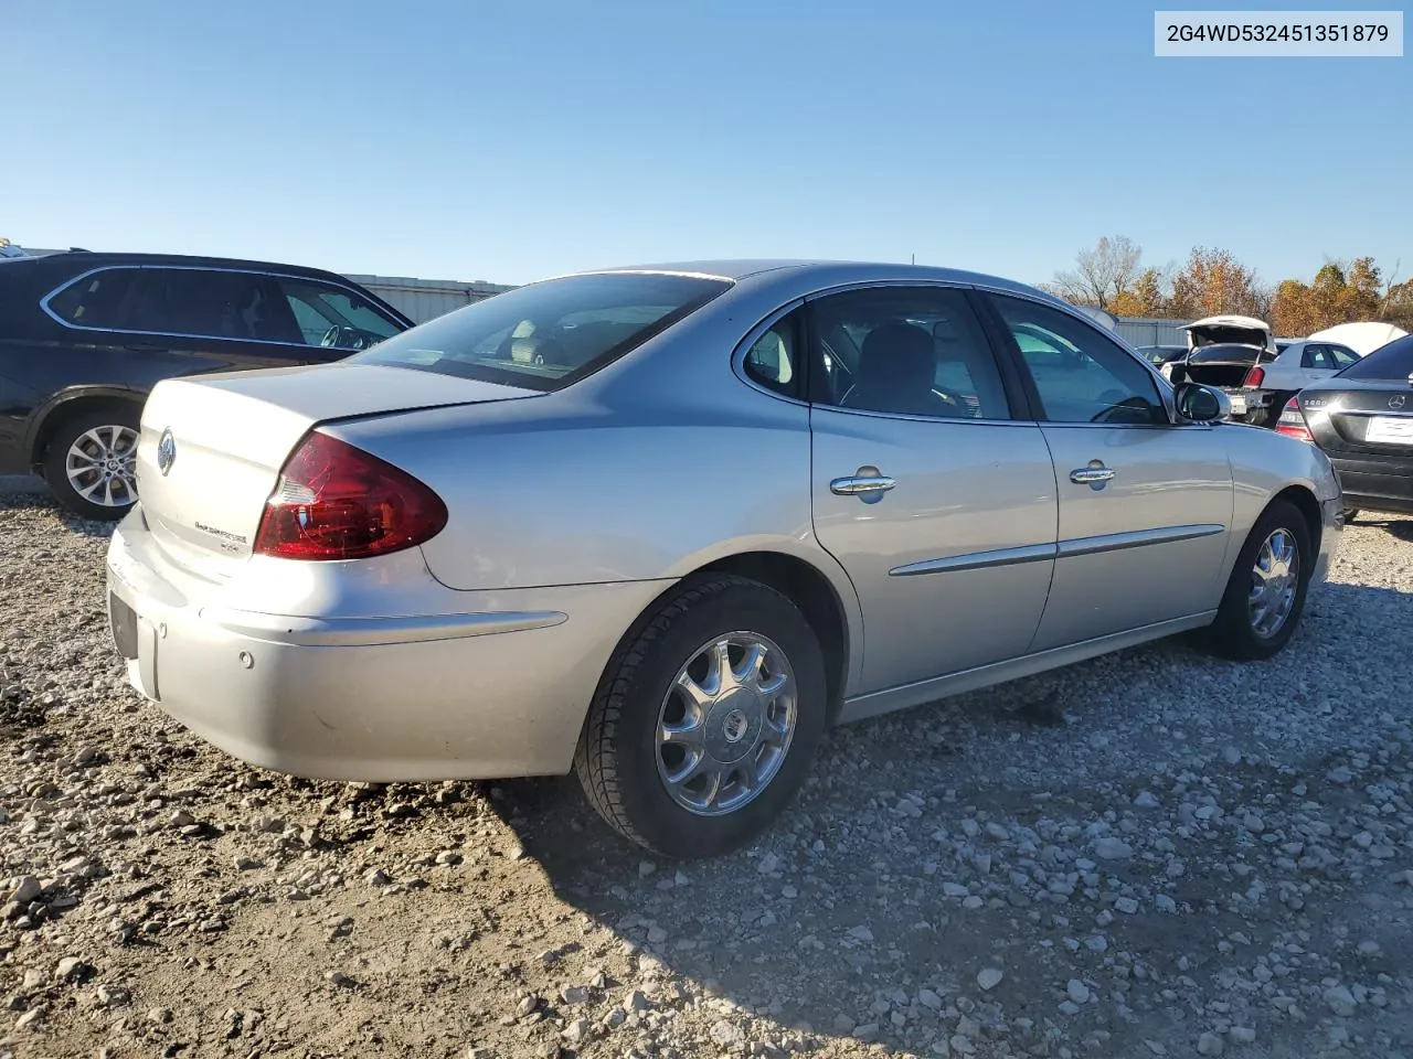
[[[137,501],[141,409],[105,405],[76,412],[49,435],[44,479],[55,498],[83,518],[117,520]]]

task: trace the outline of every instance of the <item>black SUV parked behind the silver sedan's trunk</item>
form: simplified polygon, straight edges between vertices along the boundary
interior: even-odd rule
[[[88,518],[137,498],[133,457],[162,378],[339,360],[413,326],[317,268],[69,251],[0,260],[0,474],[35,470]]]

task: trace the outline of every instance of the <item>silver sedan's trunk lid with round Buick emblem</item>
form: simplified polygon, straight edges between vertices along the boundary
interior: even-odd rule
[[[172,562],[223,580],[250,558],[281,467],[318,424],[537,395],[357,363],[164,380],[143,409],[137,496]]]

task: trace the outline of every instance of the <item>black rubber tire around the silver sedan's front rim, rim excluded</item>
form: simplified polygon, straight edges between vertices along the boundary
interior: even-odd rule
[[[1251,613],[1251,590],[1256,556],[1266,539],[1284,531],[1296,546],[1297,569],[1294,600],[1286,620],[1269,635],[1255,628]],[[1236,563],[1232,566],[1222,594],[1217,620],[1207,630],[1207,642],[1214,654],[1235,661],[1256,661],[1277,654],[1294,635],[1300,616],[1306,609],[1306,589],[1314,566],[1314,549],[1310,544],[1310,527],[1300,510],[1284,500],[1276,500],[1267,507],[1242,545]]]

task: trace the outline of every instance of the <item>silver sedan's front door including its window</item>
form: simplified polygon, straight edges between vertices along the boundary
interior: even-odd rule
[[[1232,522],[1221,432],[1174,422],[1153,373],[1096,326],[1053,305],[986,295],[1054,457],[1054,583],[1031,650],[1217,607]],[[1068,356],[1036,350],[1036,335]]]

